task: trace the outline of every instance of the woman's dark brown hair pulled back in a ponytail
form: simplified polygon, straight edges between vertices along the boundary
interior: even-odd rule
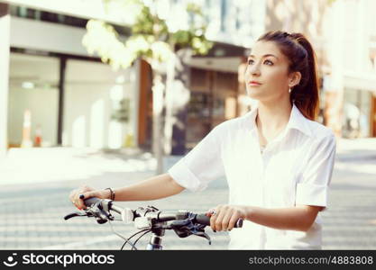
[[[291,88],[290,102],[299,111],[315,121],[319,109],[316,54],[311,43],[301,33],[269,31],[257,41],[274,41],[280,51],[289,58],[289,73],[299,71],[301,79]]]

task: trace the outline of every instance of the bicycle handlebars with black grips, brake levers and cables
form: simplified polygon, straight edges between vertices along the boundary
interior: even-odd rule
[[[191,235],[206,238],[211,245],[211,239],[205,232],[205,227],[210,225],[210,217],[205,213],[194,213],[191,211],[160,211],[153,206],[146,208],[139,207],[136,210],[130,208],[123,208],[116,206],[113,201],[107,199],[88,198],[84,200],[87,209],[84,211],[72,212],[64,217],[64,220],[69,220],[73,217],[86,216],[88,218],[94,217],[99,224],[104,224],[115,220],[115,216],[111,211],[115,211],[121,215],[121,220],[125,224],[134,223],[134,227],[140,229],[134,233],[130,238],[124,238],[122,235],[115,232],[111,225],[112,231],[124,239],[124,244],[120,248],[123,250],[125,245],[129,243],[131,250],[137,250],[137,242],[151,232],[150,241],[146,247],[147,250],[161,250],[161,241],[166,229],[173,229],[179,238],[187,238]],[[237,220],[234,228],[241,228],[243,220]],[[133,243],[131,239],[136,235],[141,234]]]

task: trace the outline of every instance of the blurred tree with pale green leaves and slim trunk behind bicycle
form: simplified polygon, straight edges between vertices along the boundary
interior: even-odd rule
[[[104,1],[107,7],[115,3],[124,10],[124,14],[134,14],[134,22],[124,25],[130,27],[132,33],[126,40],[121,40],[109,23],[90,20],[83,44],[90,54],[97,53],[103,62],[115,69],[130,67],[138,58],[151,65],[152,151],[157,158],[157,174],[160,174],[163,152],[170,153],[172,125],[176,121],[173,117],[173,95],[178,91],[177,88],[185,85],[184,82],[179,83],[181,76],[178,77],[176,71],[183,70],[179,67],[184,64],[184,58],[189,58],[192,54],[204,55],[213,46],[205,37],[206,20],[197,4],[187,5],[185,13],[188,20],[179,27],[181,22],[171,22],[160,15],[158,0]]]

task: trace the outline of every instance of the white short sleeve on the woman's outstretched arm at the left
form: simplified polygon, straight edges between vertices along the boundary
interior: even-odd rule
[[[190,191],[202,191],[207,184],[225,175],[221,157],[223,124],[219,124],[202,139],[195,148],[174,166],[168,174]]]

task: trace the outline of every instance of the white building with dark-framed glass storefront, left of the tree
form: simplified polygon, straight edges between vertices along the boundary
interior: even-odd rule
[[[69,11],[67,4],[49,10],[41,2],[6,2],[0,3],[7,52],[0,65],[3,153],[22,145],[134,146],[139,63],[114,71],[88,55],[81,43],[87,18],[75,14],[74,4]]]

